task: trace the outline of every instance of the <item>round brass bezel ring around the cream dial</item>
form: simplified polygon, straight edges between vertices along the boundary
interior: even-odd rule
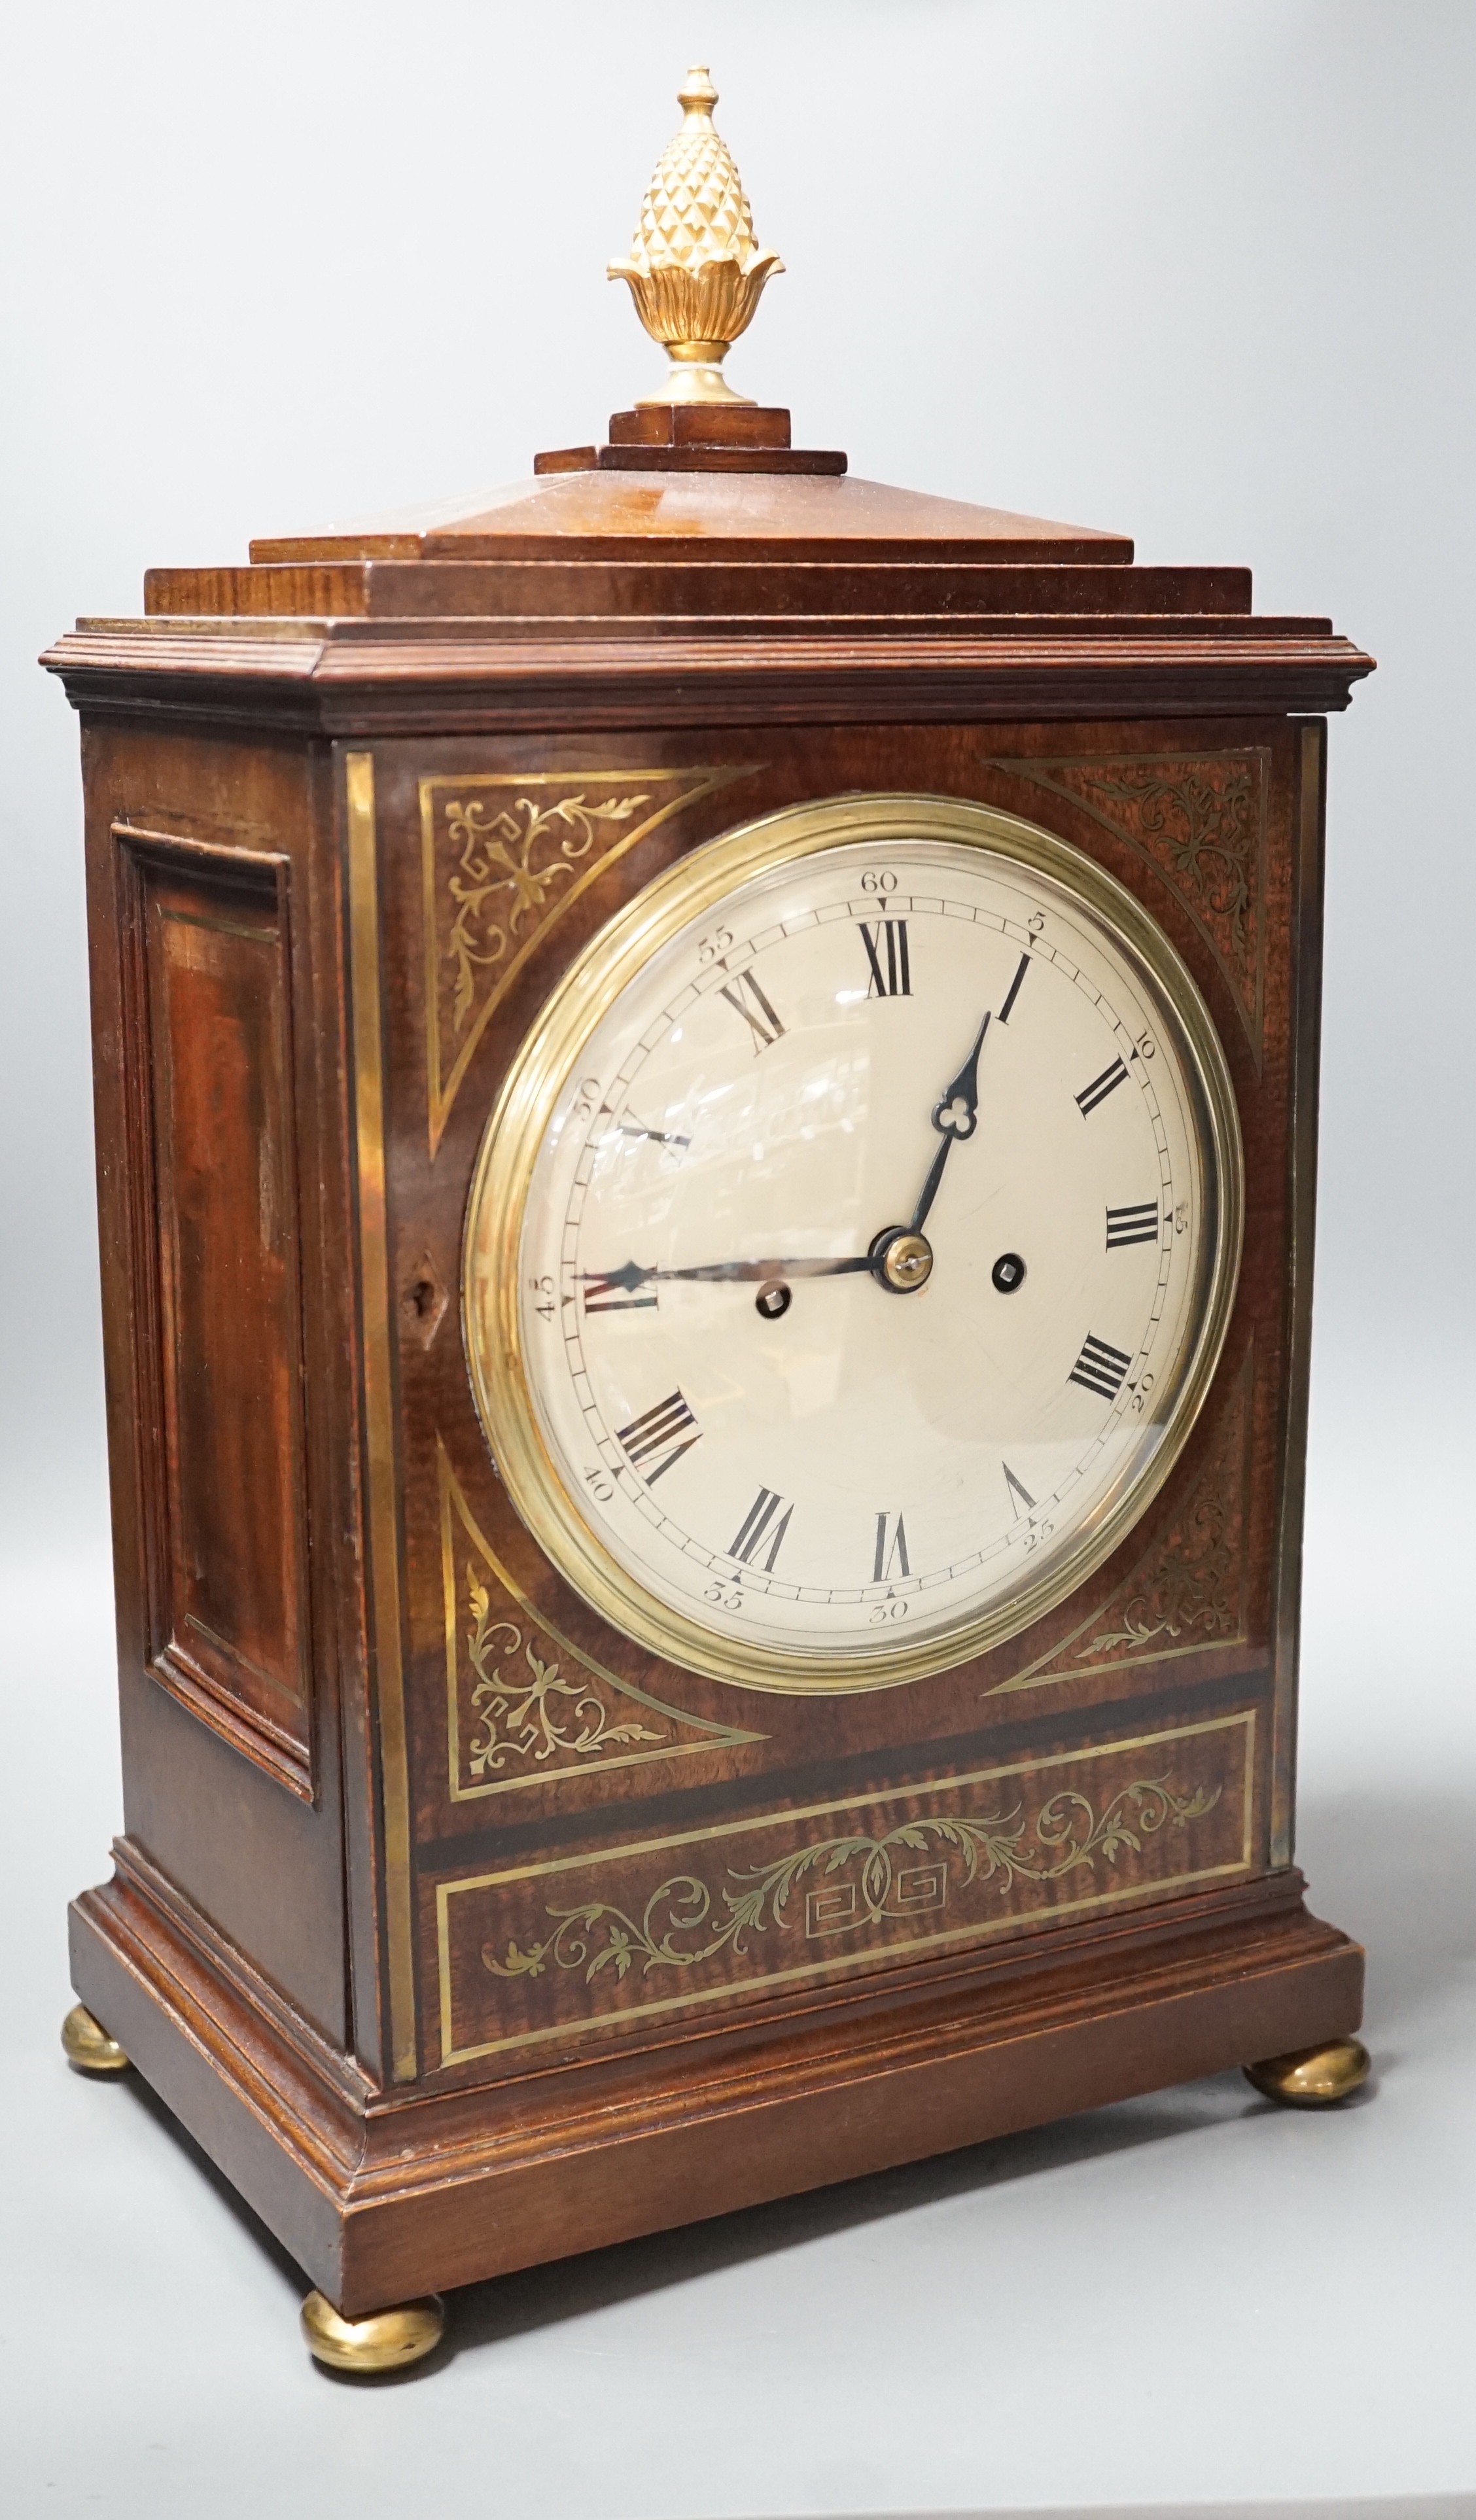
[[[640,968],[738,885],[798,857],[854,842],[940,839],[987,849],[1058,885],[1101,920],[1131,960],[1159,1023],[1174,1033],[1191,1094],[1204,1162],[1204,1242],[1199,1326],[1159,1419],[1149,1467],[1083,1527],[1076,1547],[1008,1603],[962,1620],[947,1635],[854,1656],[849,1663],[771,1646],[738,1646],[667,1608],[630,1575],[584,1522],[544,1444],[531,1399],[519,1320],[519,1245],[534,1159],[559,1091],[584,1043]],[[489,1220],[484,1225],[484,1220]],[[741,824],[678,859],[625,905],[569,963],[521,1043],[486,1124],[461,1255],[461,1326],[476,1411],[499,1477],[521,1522],[557,1572],[622,1635],[662,1661],[741,1688],[786,1696],[851,1696],[899,1688],[952,1671],[1020,1635],[1118,1547],[1174,1469],[1214,1378],[1244,1232],[1244,1154],[1234,1086],[1219,1033],[1169,937],[1113,874],[1068,842],[1018,814],[962,796],[849,794],[786,806]]]

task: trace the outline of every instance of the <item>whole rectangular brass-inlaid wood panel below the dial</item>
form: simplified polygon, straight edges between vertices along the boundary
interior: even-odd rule
[[[441,2061],[1247,1872],[1254,1711],[438,1882]]]

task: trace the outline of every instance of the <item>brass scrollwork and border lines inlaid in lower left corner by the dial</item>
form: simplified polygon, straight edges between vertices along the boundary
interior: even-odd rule
[[[552,1756],[559,1749],[564,1749],[564,1751],[579,1751],[579,1749],[594,1751],[594,1754],[599,1754],[599,1774],[610,1774],[610,1769],[615,1769],[615,1767],[647,1767],[655,1759],[690,1759],[698,1751],[725,1749],[725,1746],[733,1746],[733,1744],[741,1744],[741,1741],[766,1741],[768,1739],[766,1734],[741,1731],[733,1724],[710,1724],[705,1716],[683,1714],[683,1709],[667,1706],[662,1698],[652,1698],[645,1688],[637,1688],[635,1681],[622,1681],[620,1673],[610,1671],[592,1653],[584,1653],[584,1648],[577,1646],[572,1641],[572,1635],[564,1635],[564,1630],[544,1610],[539,1610],[536,1603],[529,1600],[529,1595],[519,1585],[516,1575],[509,1572],[509,1567],[504,1565],[504,1560],[499,1557],[499,1552],[494,1550],[494,1545],[484,1535],[481,1525],[476,1522],[476,1515],[471,1512],[466,1497],[461,1494],[461,1484],[456,1479],[456,1472],[451,1469],[451,1462],[446,1457],[446,1446],[443,1446],[441,1436],[436,1436],[436,1464],[438,1464],[438,1474],[441,1474],[441,1583],[443,1583],[443,1598],[446,1598],[446,1751],[448,1751],[451,1802],[479,1802],[484,1794],[509,1794],[509,1792],[516,1792],[524,1784],[567,1784],[574,1777],[587,1777],[587,1774],[594,1772],[592,1761],[584,1764],[579,1756],[574,1759],[574,1767],[547,1767],[547,1764],[539,1764],[539,1759],[547,1759],[547,1756]],[[539,1635],[552,1638],[554,1646],[559,1646],[559,1651],[567,1653],[569,1661],[579,1666],[579,1671],[589,1673],[592,1681],[602,1681],[605,1688],[610,1688],[617,1698],[622,1698],[622,1701],[627,1701],[632,1706],[645,1706],[650,1714],[662,1716],[667,1724],[680,1724],[688,1731],[703,1734],[703,1739],[700,1741],[673,1741],[673,1739],[660,1739],[657,1734],[645,1731],[645,1739],[655,1744],[652,1749],[620,1751],[620,1756],[610,1759],[610,1756],[605,1756],[605,1741],[615,1739],[617,1731],[620,1731],[620,1726],[610,1729],[605,1724],[605,1711],[602,1711],[602,1719],[599,1719],[597,1729],[592,1729],[592,1739],[587,1739],[587,1741],[579,1741],[579,1736],[574,1736],[574,1739],[559,1736],[559,1731],[554,1726],[552,1731],[547,1731],[547,1749],[542,1754],[539,1754],[539,1749],[531,1749],[531,1744],[529,1744],[531,1759],[534,1759],[531,1774],[524,1772],[524,1774],[514,1774],[514,1777],[491,1777],[489,1784],[463,1784],[461,1782],[461,1767],[463,1767],[463,1761],[461,1761],[461,1588],[458,1588],[458,1580],[456,1580],[456,1522],[461,1522],[461,1527],[463,1527],[466,1537],[471,1540],[474,1550],[486,1560],[486,1565],[491,1567],[496,1583],[509,1595],[509,1600],[514,1603],[514,1608],[521,1610],[524,1620],[529,1623],[529,1630],[536,1630]],[[499,1620],[496,1625],[511,1628],[509,1620]],[[516,1646],[511,1651],[531,1653],[531,1633],[529,1633],[526,1646],[524,1646],[524,1635],[516,1628],[511,1633],[516,1638]],[[557,1666],[554,1666],[554,1676],[557,1676]],[[524,1688],[524,1696],[539,1696],[539,1719],[547,1724],[544,1704],[542,1704],[544,1696],[547,1696],[547,1673],[539,1673],[536,1666],[529,1663],[529,1678],[534,1681],[534,1686]],[[562,1693],[569,1696],[567,1688]],[[514,1696],[516,1696],[516,1688],[514,1688]],[[599,1696],[594,1691],[592,1691],[592,1698],[599,1706]],[[569,1711],[579,1714],[579,1706],[572,1706]],[[529,1731],[531,1731],[531,1726],[529,1726]],[[524,1751],[519,1751],[519,1749],[514,1749],[511,1744],[504,1741],[504,1754],[521,1756]]]

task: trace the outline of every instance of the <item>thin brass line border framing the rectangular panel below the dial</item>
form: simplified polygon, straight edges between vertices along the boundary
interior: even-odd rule
[[[637,1845],[599,1847],[599,1850],[594,1850],[589,1855],[567,1855],[567,1857],[554,1857],[549,1862],[536,1862],[536,1865],[514,1865],[514,1867],[506,1867],[501,1872],[479,1872],[471,1880],[438,1882],[436,1885],[436,1943],[438,1943],[438,1976],[441,1976],[441,2064],[443,2066],[468,2064],[476,2056],[499,2056],[499,2054],[506,2054],[509,2049],[542,2046],[549,2039],[577,2039],[577,2036],[584,2036],[587,2031],[617,2029],[617,2026],[622,2026],[627,2021],[645,2021],[645,2019],[652,2019],[657,2013],[670,2013],[670,2011],[690,2008],[690,2006],[698,2006],[698,2003],[720,2003],[725,1998],[728,2001],[735,2001],[735,1998],[741,2001],[741,1998],[751,1998],[751,1996],[766,1996],[771,1988],[793,1986],[801,1978],[829,1978],[829,1976],[841,1973],[841,1971],[869,1968],[869,1966],[871,1968],[877,1968],[877,1966],[892,1966],[894,1961],[904,1961],[904,1958],[909,1958],[917,1950],[937,1950],[942,1943],[960,1945],[960,1943],[987,1940],[990,1935],[1005,1933],[1010,1928],[1023,1928],[1023,1925],[1030,1925],[1030,1923],[1055,1925],[1060,1918],[1083,1915],[1091,1908],[1116,1905],[1116,1903],[1128,1900],[1128,1898],[1164,1898],[1169,1890],[1186,1890],[1194,1882],[1222,1880],[1222,1877],[1227,1877],[1232,1872],[1249,1872],[1249,1867],[1252,1867],[1252,1809],[1254,1809],[1254,1797],[1252,1797],[1252,1779],[1254,1779],[1254,1724],[1257,1724],[1257,1711],[1254,1711],[1254,1706],[1247,1706],[1247,1709],[1242,1709],[1239,1714],[1232,1714],[1232,1716],[1209,1716],[1201,1724],[1186,1724],[1186,1726],[1169,1729],[1169,1731],[1156,1731],[1156,1734],[1138,1734],[1131,1741],[1101,1741],[1101,1744],[1093,1744],[1088,1749],[1058,1751],[1050,1759],[1023,1759],[1023,1761],[1018,1761],[1013,1767],[985,1767],[985,1769],[975,1769],[967,1777],[940,1779],[940,1784],[937,1784],[937,1792],[960,1794],[967,1787],[977,1787],[977,1784],[1000,1787],[1000,1784],[1008,1784],[1013,1779],[1043,1777],[1043,1774],[1048,1774],[1053,1769],[1076,1769],[1076,1767],[1081,1767],[1081,1764],[1086,1764],[1091,1759],[1121,1759],[1121,1756],[1126,1756],[1131,1751],[1176,1749],[1176,1746],[1181,1746],[1186,1741],[1204,1739],[1209,1734],[1227,1734],[1227,1731],[1239,1729],[1242,1731],[1242,1772],[1239,1772],[1239,1792],[1242,1792],[1242,1847],[1239,1847],[1239,1855],[1232,1862],[1201,1865],[1196,1870],[1184,1870],[1184,1872],[1174,1872],[1169,1877],[1154,1877],[1154,1880],[1144,1880],[1144,1882],[1123,1882],[1116,1890],[1093,1890],[1093,1893],[1086,1893],[1083,1898],[1076,1898],[1076,1900],[1058,1900],[1058,1903],[1053,1903],[1045,1910],[1035,1910],[1033,1915],[1005,1913],[1005,1915],[997,1915],[997,1918],[980,1918],[980,1920],[967,1923],[967,1925],[950,1925],[950,1928],[942,1928],[942,1930],[934,1930],[934,1933],[912,1935],[907,1940],[887,1943],[887,1945],[871,1948],[871,1950],[841,1953],[841,1956],[836,1956],[831,1961],[801,1961],[793,1968],[766,1971],[763,1976],[753,1976],[753,1978],[746,1978],[746,1981],[728,1981],[723,1986],[695,1988],[693,1993],[680,1993],[680,1996],[657,1996],[650,2003],[632,2003],[632,2006],[622,2006],[620,2011],[607,2008],[605,2013],[592,2013],[584,2021],[554,2021],[554,2024],[547,2024],[542,2029],[511,2031],[506,2039],[484,2039],[484,2041],[479,2041],[474,2046],[456,2046],[456,2029],[453,2029],[453,1986],[451,1986],[451,1900],[453,1898],[461,1898],[463,1893],[476,1893],[476,1890],[499,1890],[506,1882],[552,1880],[559,1872],[592,1872],[592,1870],[597,1870],[602,1865],[630,1862],[630,1860],[635,1860],[640,1855],[665,1855],[665,1852],[673,1852],[678,1847],[718,1845],[720,1840],[728,1840],[728,1837],[753,1837],[761,1830],[796,1827],[796,1824],[801,1824],[806,1819],[834,1819],[841,1812],[849,1812],[849,1814],[879,1812],[887,1804],[914,1802],[922,1789],[914,1787],[914,1784],[889,1787],[887,1792],[864,1794],[864,1797],[856,1797],[856,1799],[849,1799],[849,1802],[816,1802],[816,1804],[809,1804],[809,1807],[796,1809],[796,1812],[766,1812],[766,1814],[761,1814],[756,1819],[718,1822],[715,1827],[688,1830],[688,1832],[675,1835],[675,1837],[647,1837],[647,1840],[640,1840]],[[1141,1782],[1149,1782],[1149,1779],[1141,1779]],[[1159,1784],[1159,1779],[1151,1779],[1151,1784]],[[1126,1787],[1123,1787],[1123,1792],[1126,1792]],[[1212,1804],[1206,1804],[1204,1809],[1212,1809],[1214,1802],[1219,1802],[1219,1794],[1214,1794]],[[798,1852],[803,1852],[803,1850],[796,1850],[796,1857],[798,1857]]]

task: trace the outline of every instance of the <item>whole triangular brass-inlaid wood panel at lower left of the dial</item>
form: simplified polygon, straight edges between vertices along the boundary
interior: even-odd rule
[[[479,1530],[443,1444],[436,1457],[451,1802],[763,1741],[665,1706],[574,1646]]]

